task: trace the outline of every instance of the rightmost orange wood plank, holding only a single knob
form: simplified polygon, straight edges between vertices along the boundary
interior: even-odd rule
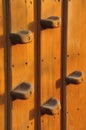
[[[81,84],[67,85],[67,130],[86,129],[86,1],[68,3],[67,75],[84,73]]]

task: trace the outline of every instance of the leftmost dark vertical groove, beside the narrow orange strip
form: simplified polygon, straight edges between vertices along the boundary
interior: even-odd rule
[[[5,0],[5,28],[6,28],[6,96],[7,96],[7,130],[11,130],[11,99],[10,99],[10,88],[11,88],[11,71],[10,71],[10,0]]]

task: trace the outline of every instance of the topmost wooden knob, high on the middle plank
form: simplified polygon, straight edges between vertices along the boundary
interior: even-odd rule
[[[57,16],[51,16],[46,19],[41,19],[41,27],[46,28],[57,28],[60,26],[60,18]]]

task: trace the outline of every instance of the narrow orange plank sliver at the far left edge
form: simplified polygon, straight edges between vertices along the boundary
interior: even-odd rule
[[[5,34],[3,1],[0,1],[0,130],[5,130]]]

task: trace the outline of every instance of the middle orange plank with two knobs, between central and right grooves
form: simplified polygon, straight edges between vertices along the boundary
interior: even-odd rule
[[[61,18],[61,1],[42,0],[41,19],[50,16]],[[61,25],[58,28],[41,29],[41,105],[51,97],[60,101]],[[41,130],[60,130],[60,112],[41,115]]]

